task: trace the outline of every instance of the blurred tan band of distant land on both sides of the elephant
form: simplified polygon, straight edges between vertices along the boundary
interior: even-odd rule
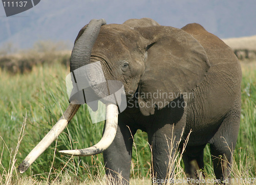
[[[223,39],[223,41],[233,49],[240,61],[255,61],[256,35]],[[59,44],[61,42],[37,42],[33,49],[9,55],[0,51],[0,69],[16,74],[31,72],[33,66],[44,63],[48,65],[61,63],[69,67],[71,51],[63,51]]]

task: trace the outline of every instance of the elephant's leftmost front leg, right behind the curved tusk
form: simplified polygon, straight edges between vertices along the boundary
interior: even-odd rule
[[[131,130],[131,131],[130,131]],[[132,132],[132,134],[131,134]],[[136,129],[127,127],[118,120],[115,139],[108,149],[103,151],[106,175],[112,183],[129,184],[133,138]]]

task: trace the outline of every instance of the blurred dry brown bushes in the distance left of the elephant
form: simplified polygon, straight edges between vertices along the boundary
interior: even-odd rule
[[[70,51],[63,42],[38,41],[33,49],[17,51],[11,43],[0,49],[0,68],[12,74],[28,73],[33,66],[60,62],[69,65]]]

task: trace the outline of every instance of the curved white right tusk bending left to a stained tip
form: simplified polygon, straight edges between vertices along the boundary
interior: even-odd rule
[[[105,149],[107,149],[111,145],[111,143],[113,142],[116,136],[117,123],[118,123],[117,106],[114,104],[107,104],[105,131],[99,143],[89,148],[77,149],[77,150],[61,150],[59,151],[59,153],[76,155],[76,156],[89,156],[89,155],[96,155],[98,153],[103,152]]]

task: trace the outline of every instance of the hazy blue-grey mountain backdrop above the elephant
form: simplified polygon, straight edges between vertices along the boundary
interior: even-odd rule
[[[26,49],[38,40],[62,40],[72,49],[80,28],[92,18],[122,24],[150,17],[176,28],[198,22],[220,38],[250,36],[256,34],[255,7],[255,0],[41,0],[30,10],[6,17],[0,5],[0,48],[12,43]]]

